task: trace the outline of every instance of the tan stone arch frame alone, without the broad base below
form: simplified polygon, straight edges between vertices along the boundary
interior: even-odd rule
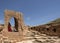
[[[5,30],[7,31],[8,29],[8,23],[9,23],[9,20],[11,18],[14,18],[15,20],[15,27],[17,28],[17,25],[18,25],[18,29],[19,30],[23,30],[23,20],[22,20],[22,14],[20,12],[15,12],[15,11],[10,11],[10,10],[6,10],[5,11]]]

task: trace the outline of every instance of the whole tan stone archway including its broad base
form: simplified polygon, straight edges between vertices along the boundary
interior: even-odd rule
[[[11,18],[14,18],[15,21],[15,30],[16,31],[8,31],[8,25],[9,21]],[[22,13],[20,12],[15,12],[15,11],[10,11],[10,10],[5,10],[5,24],[4,24],[4,29],[2,31],[2,35],[5,37],[8,37],[10,40],[17,40],[21,41],[24,39],[24,35],[27,32],[27,26],[25,26],[23,18],[22,18]]]

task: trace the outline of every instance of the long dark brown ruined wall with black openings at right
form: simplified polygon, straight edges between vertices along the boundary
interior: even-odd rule
[[[30,29],[51,36],[60,36],[60,24],[50,23],[50,24],[30,27]]]

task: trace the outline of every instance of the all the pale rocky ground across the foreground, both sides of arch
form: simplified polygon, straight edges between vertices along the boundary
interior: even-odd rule
[[[1,33],[0,33],[1,34]],[[28,31],[25,35],[25,39],[21,42],[14,42],[9,40],[7,37],[0,35],[0,43],[60,43],[60,38],[57,36],[47,36],[46,34],[41,34],[37,31]]]

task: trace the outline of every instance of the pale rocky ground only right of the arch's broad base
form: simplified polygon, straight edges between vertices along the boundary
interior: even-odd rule
[[[26,35],[26,40],[20,43],[60,43],[60,38],[57,36],[47,36],[37,31],[29,31]]]

